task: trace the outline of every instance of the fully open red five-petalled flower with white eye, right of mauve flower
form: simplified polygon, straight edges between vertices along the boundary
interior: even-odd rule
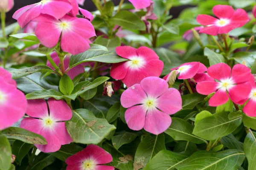
[[[251,85],[248,82],[250,68],[247,68],[245,65],[236,64],[231,73],[230,66],[225,63],[218,63],[210,66],[207,74],[218,81],[198,82],[196,90],[204,95],[216,92],[209,99],[210,106],[223,105],[229,98],[236,104],[244,104],[251,91]]]

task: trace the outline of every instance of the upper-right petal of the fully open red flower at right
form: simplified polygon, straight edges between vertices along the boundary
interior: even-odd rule
[[[246,82],[250,79],[250,68],[242,64],[236,64],[232,68],[231,78],[235,83]]]

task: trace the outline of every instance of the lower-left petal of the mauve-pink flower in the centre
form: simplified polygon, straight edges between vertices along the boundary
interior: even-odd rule
[[[131,130],[141,130],[145,124],[147,110],[144,105],[137,105],[125,111],[125,121]]]

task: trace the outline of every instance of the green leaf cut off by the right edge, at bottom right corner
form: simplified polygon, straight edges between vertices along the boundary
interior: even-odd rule
[[[248,170],[256,170],[256,133],[249,131],[244,139],[244,153],[248,160]]]

